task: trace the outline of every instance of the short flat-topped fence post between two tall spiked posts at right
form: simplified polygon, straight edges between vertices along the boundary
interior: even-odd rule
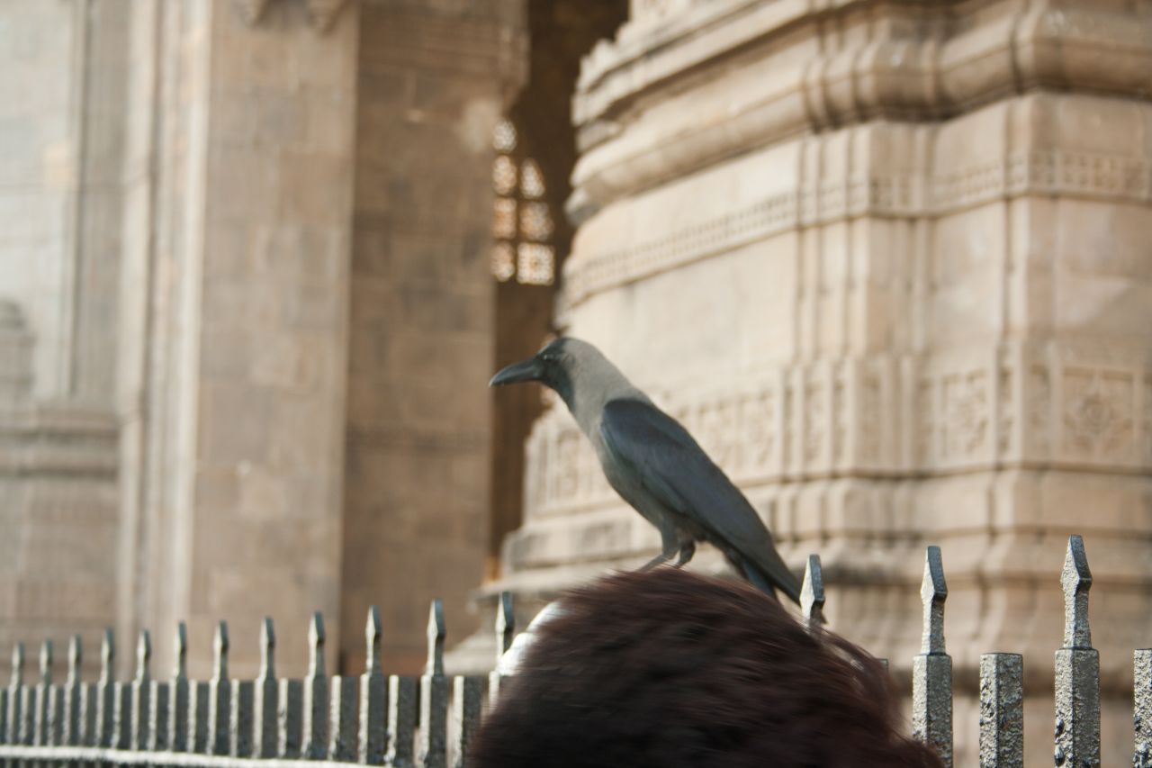
[[[980,656],[980,768],[1024,768],[1024,657]]]

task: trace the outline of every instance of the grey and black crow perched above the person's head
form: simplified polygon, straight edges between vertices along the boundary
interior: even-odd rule
[[[712,542],[751,583],[799,602],[799,582],[744,495],[680,423],[631,385],[586,341],[560,338],[508,366],[491,386],[540,382],[555,390],[592,443],[608,483],[660,532],[661,551],[642,570],[696,542]]]

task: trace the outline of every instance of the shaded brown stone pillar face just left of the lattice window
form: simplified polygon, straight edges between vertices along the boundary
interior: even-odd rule
[[[358,637],[379,603],[388,669],[424,664],[433,597],[467,634],[484,572],[492,136],[523,77],[522,6],[361,3],[341,626]]]

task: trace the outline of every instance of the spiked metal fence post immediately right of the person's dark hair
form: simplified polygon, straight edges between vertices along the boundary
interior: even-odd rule
[[[912,660],[912,730],[916,738],[935,747],[943,765],[952,768],[952,656],[943,645],[947,598],[940,548],[929,547],[920,583],[924,634],[920,653]]]

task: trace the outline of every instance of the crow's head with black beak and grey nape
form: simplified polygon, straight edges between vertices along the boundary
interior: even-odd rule
[[[573,338],[555,339],[528,360],[508,366],[492,377],[488,386],[517,382],[539,382],[555,390],[574,413],[574,406],[585,398],[601,400],[632,390],[599,349]]]

